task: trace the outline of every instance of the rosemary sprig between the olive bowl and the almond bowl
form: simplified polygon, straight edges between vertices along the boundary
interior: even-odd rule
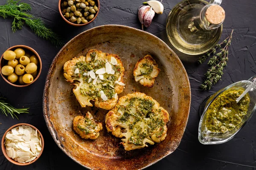
[[[10,105],[5,101],[5,98],[0,97],[0,111],[2,111],[2,113],[5,114],[6,116],[10,114],[12,116],[12,119],[14,119],[13,116],[15,116],[18,119],[16,114],[29,113],[28,109],[29,108],[22,108],[22,109],[14,108],[12,105]]]

